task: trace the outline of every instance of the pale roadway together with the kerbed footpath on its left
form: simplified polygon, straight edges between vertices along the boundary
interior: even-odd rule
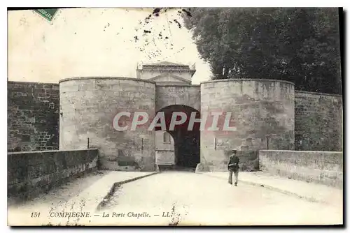
[[[162,172],[118,186],[103,209],[97,204],[113,183],[140,172],[99,172],[10,206],[11,225],[319,225],[341,224],[342,205],[309,202],[293,195],[193,172]],[[213,174],[212,174],[213,175]],[[222,178],[220,176],[223,176]],[[244,175],[243,175],[244,176]],[[267,179],[267,178],[266,178]],[[270,181],[271,182],[271,181]],[[287,182],[287,181],[285,181]],[[317,190],[316,190],[317,191]],[[87,217],[50,213],[88,212]],[[31,212],[40,212],[31,218]]]

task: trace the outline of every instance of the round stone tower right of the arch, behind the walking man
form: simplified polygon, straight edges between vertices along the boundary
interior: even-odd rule
[[[202,130],[201,163],[220,167],[218,151],[294,149],[294,84],[279,80],[215,80],[202,82],[201,114],[222,112],[218,130]],[[223,123],[230,113],[230,126]],[[211,125],[208,117],[207,126]],[[267,141],[268,140],[268,141]]]

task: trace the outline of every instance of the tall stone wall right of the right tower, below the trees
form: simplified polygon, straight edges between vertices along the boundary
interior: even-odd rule
[[[295,91],[295,150],[342,151],[342,96]]]

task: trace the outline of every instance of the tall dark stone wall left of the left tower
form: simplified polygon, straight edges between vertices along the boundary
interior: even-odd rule
[[[58,84],[8,82],[8,151],[58,149]]]

